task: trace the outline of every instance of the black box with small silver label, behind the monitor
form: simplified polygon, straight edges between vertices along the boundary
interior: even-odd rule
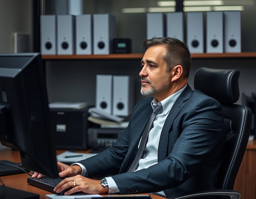
[[[56,149],[88,149],[87,129],[92,125],[88,109],[50,109]]]

